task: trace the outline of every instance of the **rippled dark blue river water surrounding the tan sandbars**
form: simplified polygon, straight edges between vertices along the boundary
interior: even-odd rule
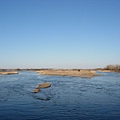
[[[101,74],[91,79],[26,71],[0,75],[0,120],[120,120],[120,74]],[[52,86],[33,93],[43,82]]]

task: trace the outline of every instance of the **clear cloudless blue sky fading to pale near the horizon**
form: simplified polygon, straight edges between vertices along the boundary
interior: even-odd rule
[[[0,68],[120,64],[120,0],[0,0]]]

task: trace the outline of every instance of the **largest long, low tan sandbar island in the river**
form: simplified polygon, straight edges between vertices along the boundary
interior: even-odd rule
[[[92,78],[94,76],[99,76],[96,74],[95,70],[40,70],[37,71],[42,75],[55,75],[55,76],[73,76],[82,78]]]

